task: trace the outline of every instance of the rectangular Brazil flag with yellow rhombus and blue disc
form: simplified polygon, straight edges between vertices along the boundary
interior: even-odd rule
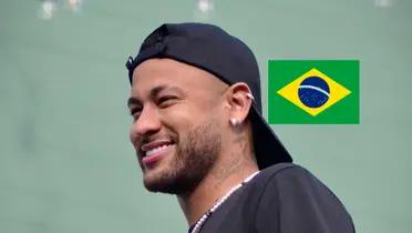
[[[359,124],[359,61],[269,61],[271,124]]]

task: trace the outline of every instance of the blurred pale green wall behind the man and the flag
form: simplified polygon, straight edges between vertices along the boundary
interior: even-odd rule
[[[0,232],[187,232],[128,143],[124,63],[163,22],[218,24],[269,59],[360,60],[358,125],[274,125],[357,232],[412,229],[412,1],[0,0]]]

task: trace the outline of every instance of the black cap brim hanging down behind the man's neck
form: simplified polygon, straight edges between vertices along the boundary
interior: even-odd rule
[[[251,108],[251,124],[254,133],[255,155],[260,170],[281,162],[292,162],[292,158],[285,149],[264,116]]]

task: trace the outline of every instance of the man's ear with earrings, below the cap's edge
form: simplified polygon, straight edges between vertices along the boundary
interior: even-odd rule
[[[234,124],[234,121],[237,124],[244,123],[254,101],[249,87],[245,82],[237,82],[230,85],[227,90],[227,100],[230,105],[230,123]]]

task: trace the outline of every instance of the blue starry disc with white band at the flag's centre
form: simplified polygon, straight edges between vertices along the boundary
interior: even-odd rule
[[[299,85],[299,99],[308,108],[322,107],[329,100],[329,85],[319,77],[306,78]]]

